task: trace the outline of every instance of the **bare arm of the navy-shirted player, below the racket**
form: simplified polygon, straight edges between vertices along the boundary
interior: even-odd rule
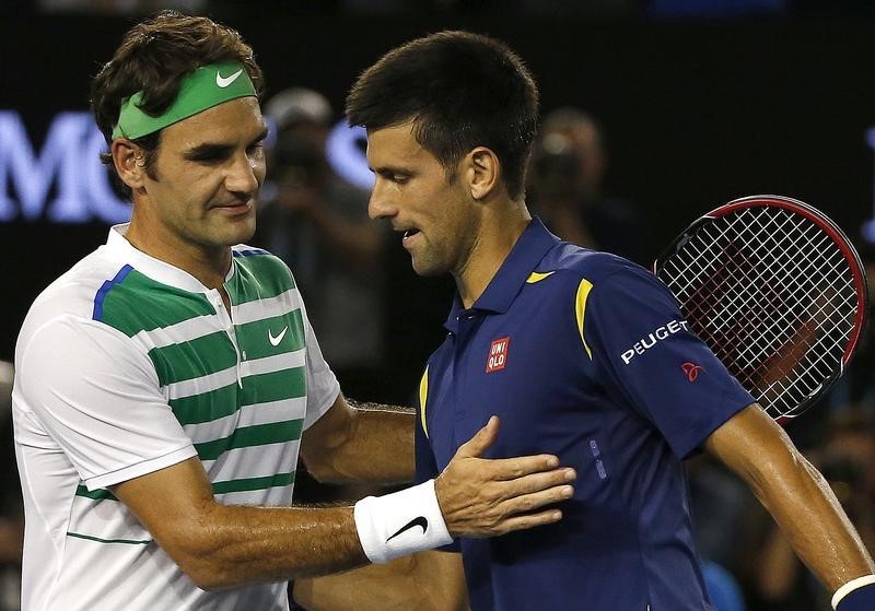
[[[747,482],[803,562],[836,592],[838,611],[875,609],[872,557],[827,481],[759,406],[730,419],[705,448]]]

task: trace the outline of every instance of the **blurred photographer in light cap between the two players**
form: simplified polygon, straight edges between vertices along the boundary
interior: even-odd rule
[[[385,379],[384,233],[368,219],[368,191],[337,176],[326,160],[328,101],[293,87],[265,105],[277,144],[258,212],[255,244],[293,270],[325,357],[343,388],[381,399]]]

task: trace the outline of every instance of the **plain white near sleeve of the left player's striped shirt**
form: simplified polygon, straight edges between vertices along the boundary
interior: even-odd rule
[[[197,456],[151,361],[127,336],[65,316],[25,341],[16,392],[89,490]]]

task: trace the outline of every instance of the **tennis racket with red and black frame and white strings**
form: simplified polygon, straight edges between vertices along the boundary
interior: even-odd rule
[[[654,262],[690,328],[780,423],[842,374],[866,321],[866,277],[824,213],[780,196],[736,199]]]

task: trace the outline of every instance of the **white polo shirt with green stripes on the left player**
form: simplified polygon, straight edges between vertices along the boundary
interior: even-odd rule
[[[37,297],[19,337],[24,607],[285,609],[284,584],[198,589],[107,486],[198,456],[220,502],[289,505],[301,434],[337,380],[279,259],[233,248],[229,315],[125,230]]]

